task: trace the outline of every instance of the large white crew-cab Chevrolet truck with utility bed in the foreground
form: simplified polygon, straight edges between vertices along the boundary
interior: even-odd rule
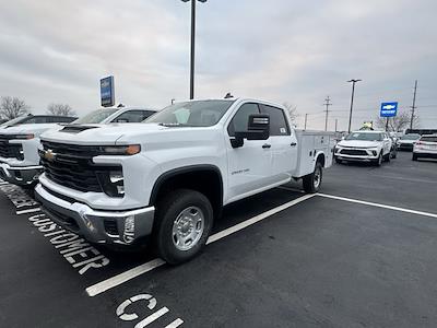
[[[203,248],[223,206],[293,178],[316,192],[333,139],[295,131],[285,108],[262,101],[177,103],[144,124],[44,133],[35,196],[91,242],[152,237],[180,263]]]

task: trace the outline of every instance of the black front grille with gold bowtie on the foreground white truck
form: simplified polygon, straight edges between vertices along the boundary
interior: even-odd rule
[[[43,141],[43,148],[52,156],[42,154],[46,176],[61,186],[79,191],[103,192],[97,176],[118,166],[103,166],[93,163],[97,147],[63,144]]]

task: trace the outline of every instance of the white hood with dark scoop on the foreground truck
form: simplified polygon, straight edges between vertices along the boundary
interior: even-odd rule
[[[72,144],[116,144],[117,141],[138,142],[137,136],[167,130],[158,124],[109,124],[66,126],[57,131],[47,131],[42,139],[51,142]],[[121,141],[121,143],[126,143]]]

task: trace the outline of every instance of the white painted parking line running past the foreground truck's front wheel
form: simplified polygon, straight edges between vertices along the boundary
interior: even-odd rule
[[[231,227],[228,227],[228,229],[226,229],[224,231],[221,231],[221,232],[218,232],[216,234],[213,234],[212,236],[210,236],[208,238],[206,245],[211,244],[211,243],[214,243],[214,242],[216,242],[216,241],[218,241],[221,238],[224,238],[224,237],[226,237],[226,236],[228,236],[228,235],[231,235],[233,233],[236,233],[237,231],[240,231],[240,230],[243,230],[243,229],[245,229],[245,227],[247,227],[249,225],[252,225],[252,224],[255,224],[255,223],[257,223],[257,222],[259,222],[261,220],[264,220],[264,219],[267,219],[267,218],[269,218],[269,216],[271,216],[273,214],[276,214],[276,213],[279,213],[279,212],[283,211],[283,210],[286,210],[287,208],[291,208],[291,207],[293,207],[295,204],[298,204],[299,202],[303,202],[303,201],[305,201],[305,200],[307,200],[309,198],[312,198],[315,196],[316,196],[316,194],[302,196],[302,197],[299,197],[299,198],[297,198],[295,200],[288,201],[288,202],[286,202],[286,203],[284,203],[282,206],[279,206],[279,207],[276,207],[274,209],[271,209],[271,210],[269,210],[267,212],[263,212],[263,213],[261,213],[259,215],[256,215],[256,216],[253,216],[253,218],[251,218],[249,220],[246,220],[246,221],[244,221],[241,223],[238,223],[238,224],[236,224],[234,226],[231,226]],[[161,267],[163,265],[165,265],[165,261],[163,259],[155,258],[154,260],[151,260],[151,261],[149,261],[149,262],[146,262],[144,265],[138,266],[138,267],[135,267],[133,269],[130,269],[128,271],[125,271],[125,272],[122,272],[120,274],[117,274],[115,277],[108,278],[108,279],[106,279],[104,281],[101,281],[101,282],[98,282],[96,284],[93,284],[92,286],[88,286],[85,291],[91,297],[96,296],[98,294],[102,294],[103,292],[106,292],[107,290],[110,290],[110,289],[113,289],[113,288],[115,288],[117,285],[120,285],[120,284],[122,284],[122,283],[125,283],[125,282],[127,282],[127,281],[129,281],[129,280],[131,280],[133,278],[137,278],[137,277],[139,277],[139,276],[141,276],[143,273],[152,271],[152,270],[154,270],[154,269],[156,269],[156,268],[158,268],[158,267]]]

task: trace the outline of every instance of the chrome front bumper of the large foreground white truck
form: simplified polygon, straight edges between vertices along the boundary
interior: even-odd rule
[[[43,212],[63,229],[92,243],[130,245],[152,233],[154,207],[103,211],[61,197],[40,184],[35,187],[35,198],[42,203]]]

